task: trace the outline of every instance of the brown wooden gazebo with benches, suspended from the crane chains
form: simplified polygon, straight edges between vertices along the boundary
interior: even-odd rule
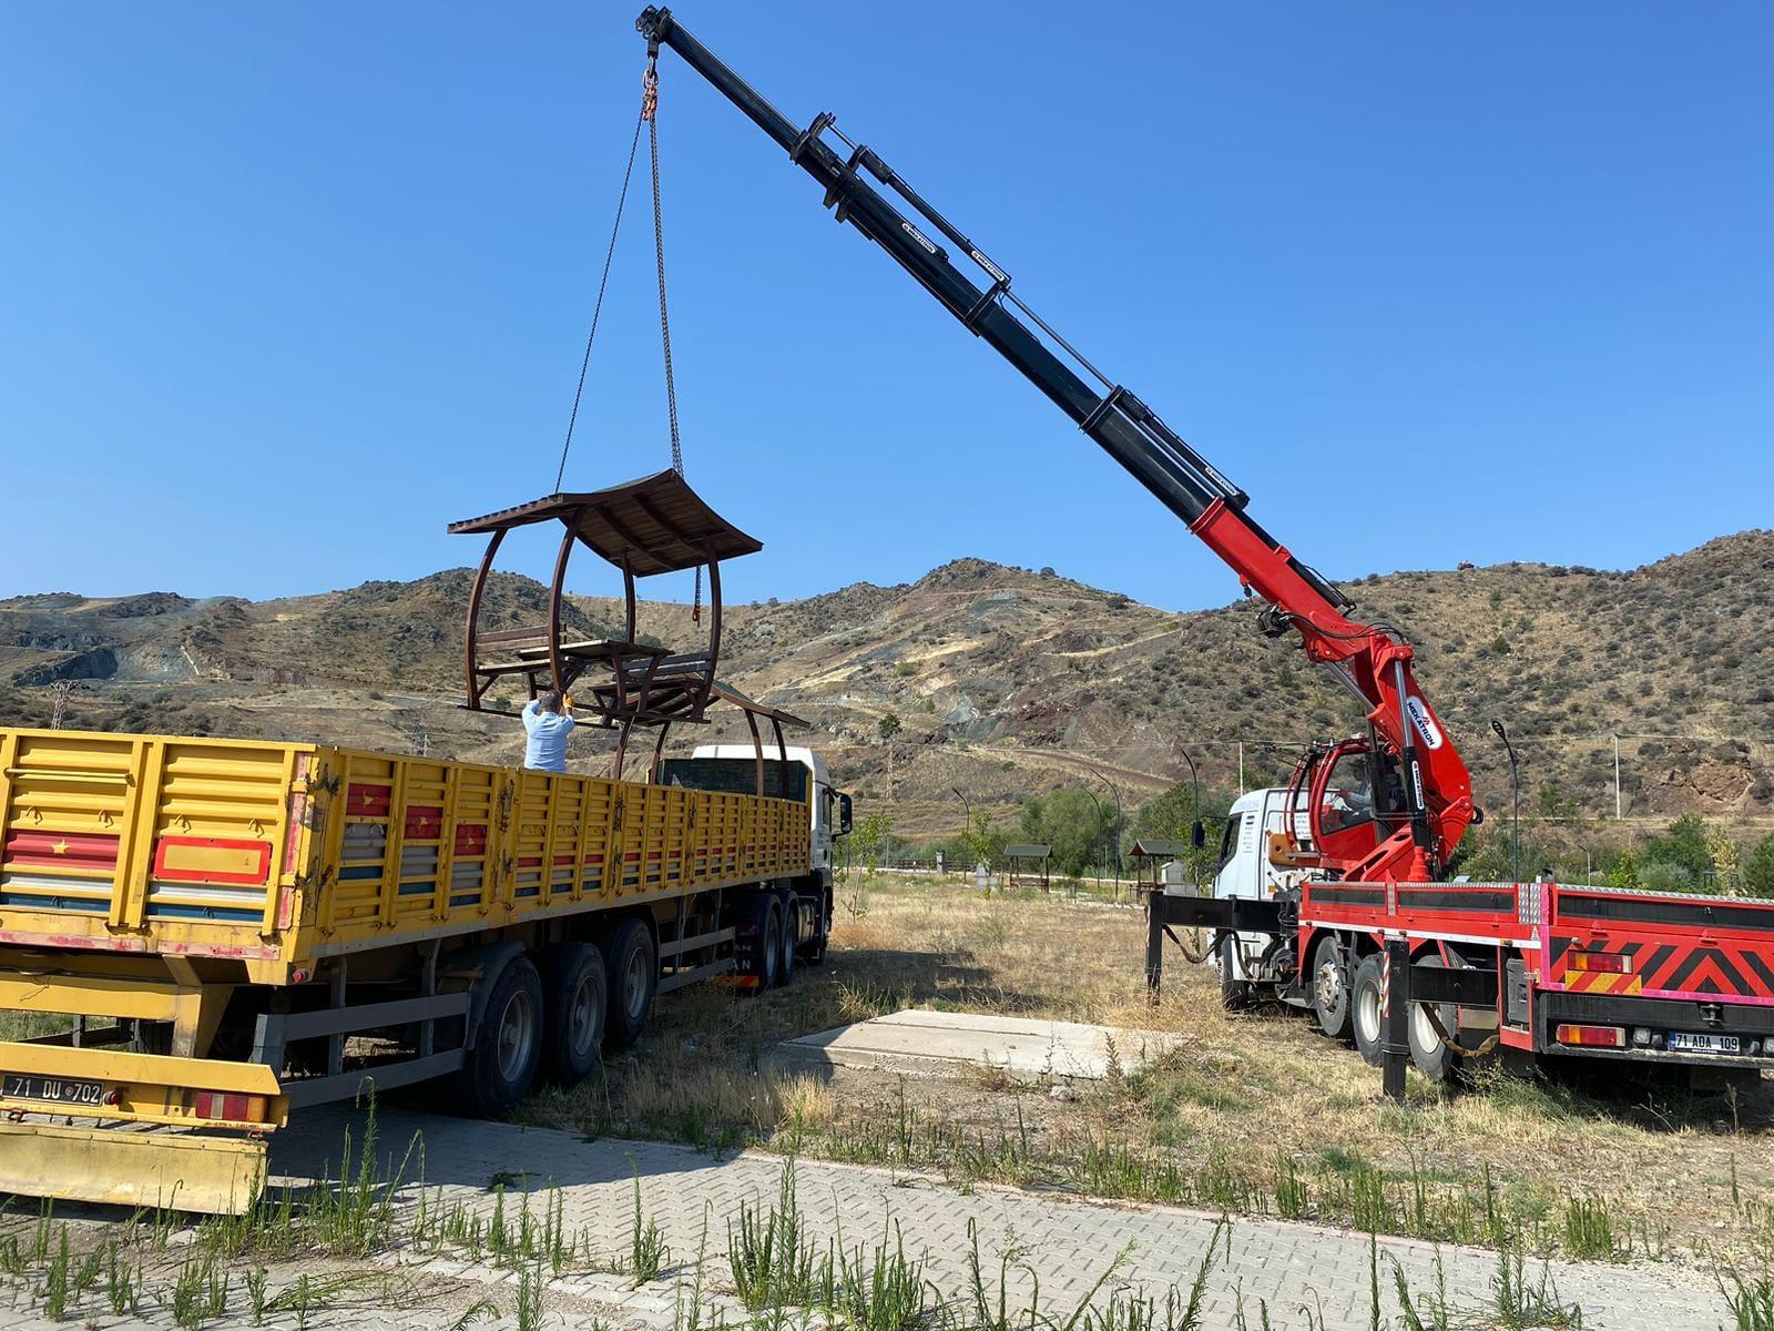
[[[483,593],[506,532],[538,522],[562,527],[548,584],[548,621],[534,628],[481,632]],[[589,692],[582,692],[575,706],[596,712],[596,724],[623,731],[617,763],[633,726],[663,729],[674,721],[703,719],[715,696],[720,662],[720,563],[754,554],[763,545],[715,513],[683,476],[667,470],[608,490],[546,495],[451,524],[449,531],[491,536],[468,593],[463,674],[470,710],[483,712],[488,690],[504,678],[523,680],[530,697],[545,685],[566,694],[585,680]],[[561,637],[561,598],[575,545],[587,547],[623,573],[626,619],[621,639]],[[708,648],[674,653],[640,642],[635,579],[697,566],[708,570]]]

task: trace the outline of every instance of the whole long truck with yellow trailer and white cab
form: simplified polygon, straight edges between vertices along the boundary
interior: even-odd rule
[[[303,1104],[500,1113],[660,990],[821,960],[850,802],[765,752],[633,783],[0,729],[0,1191],[236,1210]]]

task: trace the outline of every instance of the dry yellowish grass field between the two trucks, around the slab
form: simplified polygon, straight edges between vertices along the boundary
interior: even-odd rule
[[[1563,1244],[1572,1198],[1602,1198],[1620,1246],[1636,1255],[1774,1244],[1767,1093],[1733,1113],[1724,1099],[1668,1088],[1604,1093],[1504,1077],[1448,1097],[1412,1074],[1410,1104],[1398,1109],[1350,1049],[1279,1008],[1226,1015],[1212,974],[1174,953],[1166,999],[1151,1008],[1142,946],[1142,918],[1125,907],[981,900],[960,886],[876,878],[860,914],[839,912],[825,967],[765,996],[669,996],[603,1079],[545,1093],[527,1116],[1325,1219],[1348,1219],[1350,1207],[1364,1216],[1359,1196],[1332,1194],[1378,1178],[1401,1198],[1400,1214],[1416,1207],[1416,1217],[1382,1226],[1540,1248]],[[1181,1040],[1071,1102],[992,1070],[910,1081],[859,1070],[782,1081],[761,1070],[779,1040],[905,1006]],[[1295,1175],[1307,1180],[1304,1203],[1290,1203]],[[1465,1198],[1464,1217],[1435,1210],[1453,1205],[1437,1201],[1444,1191]],[[1506,1223],[1487,1221],[1488,1207]]]

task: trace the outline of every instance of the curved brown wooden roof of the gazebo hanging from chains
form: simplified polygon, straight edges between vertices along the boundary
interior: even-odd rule
[[[532,522],[564,522],[589,550],[635,577],[674,573],[710,559],[763,550],[715,513],[678,472],[658,472],[608,490],[555,493],[465,522],[452,536],[511,531]]]

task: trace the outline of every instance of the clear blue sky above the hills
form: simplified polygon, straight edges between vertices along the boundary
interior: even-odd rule
[[[419,577],[477,555],[449,520],[552,490],[635,11],[12,7],[0,595]],[[1332,577],[1774,520],[1762,4],[676,12],[789,119],[837,112]],[[731,596],[974,554],[1231,598],[775,146],[662,80],[687,467],[766,547]],[[630,202],[577,488],[669,461]]]

